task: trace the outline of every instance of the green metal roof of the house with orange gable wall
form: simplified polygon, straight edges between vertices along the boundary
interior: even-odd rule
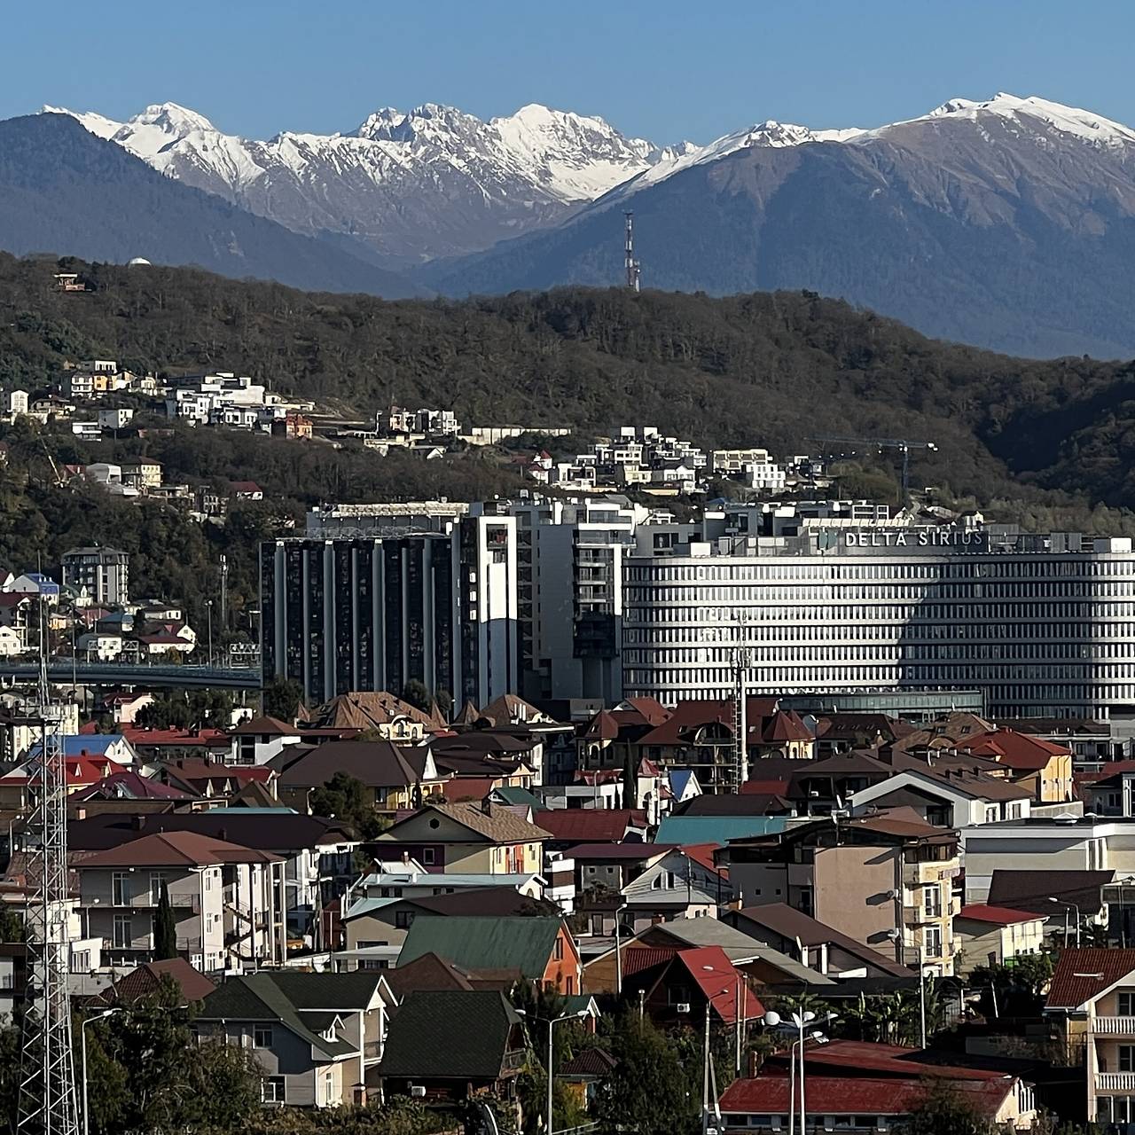
[[[560,918],[528,915],[419,915],[406,932],[398,965],[436,953],[462,969],[519,969],[524,977],[540,978],[561,925]]]

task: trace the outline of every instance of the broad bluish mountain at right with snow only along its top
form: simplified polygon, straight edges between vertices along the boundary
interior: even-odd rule
[[[763,123],[420,278],[616,283],[629,207],[644,287],[806,288],[1011,353],[1135,353],[1135,131],[1003,93],[874,128]]]

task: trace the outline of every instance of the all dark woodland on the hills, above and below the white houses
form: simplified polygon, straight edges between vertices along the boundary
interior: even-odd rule
[[[53,287],[60,264],[92,291]],[[947,503],[1036,528],[1135,531],[1135,365],[1014,359],[931,340],[813,293],[729,299],[561,288],[466,301],[385,302],[224,279],[194,269],[16,259],[0,254],[0,384],[45,389],[65,363],[249,373],[320,409],[370,417],[392,402],[453,406],[473,424],[571,426],[581,435],[637,422],[703,446],[815,452],[818,435],[933,440],[911,455],[915,486]],[[234,619],[250,606],[257,539],[301,523],[321,501],[479,498],[514,493],[490,456],[422,462],[360,447],[221,430],[83,445],[8,431],[0,562],[58,558],[89,540],[120,544],[138,594],[216,592],[229,556]],[[263,505],[199,526],[160,504],[54,488],[62,461],[149,455],[167,480],[255,480]],[[893,453],[867,462],[893,482]],[[876,480],[883,480],[876,478]]]

